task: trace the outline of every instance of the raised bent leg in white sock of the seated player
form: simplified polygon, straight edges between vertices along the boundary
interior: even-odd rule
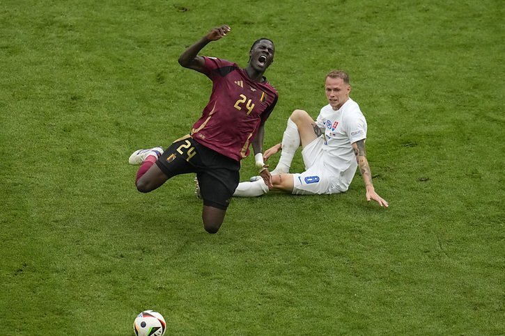
[[[288,118],[288,125],[282,137],[282,152],[277,167],[272,174],[288,173],[295,152],[302,145],[305,147],[318,137],[315,131],[316,122],[309,113],[303,110],[295,110]]]

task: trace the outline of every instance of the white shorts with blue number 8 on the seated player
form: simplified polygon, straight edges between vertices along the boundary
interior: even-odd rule
[[[325,168],[324,141],[324,138],[320,136],[302,150],[305,171],[293,174],[293,194],[323,195],[343,192],[338,187],[339,175]]]

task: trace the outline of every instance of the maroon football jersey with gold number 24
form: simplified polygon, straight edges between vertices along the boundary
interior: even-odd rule
[[[205,147],[237,161],[249,155],[249,143],[277,103],[277,90],[264,81],[256,83],[235,63],[205,58],[212,94],[192,138]]]

